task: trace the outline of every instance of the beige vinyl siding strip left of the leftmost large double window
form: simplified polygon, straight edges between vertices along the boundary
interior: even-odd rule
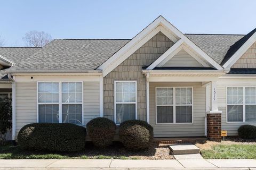
[[[16,82],[16,135],[29,123],[36,123],[36,82]]]

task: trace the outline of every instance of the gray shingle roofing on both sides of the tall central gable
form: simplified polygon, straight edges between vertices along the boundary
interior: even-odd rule
[[[206,54],[221,64],[230,46],[244,35],[185,34]],[[130,39],[54,39],[42,48],[0,47],[0,55],[15,63],[0,71],[95,70]]]

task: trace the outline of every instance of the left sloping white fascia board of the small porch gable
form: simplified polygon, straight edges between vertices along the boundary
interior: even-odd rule
[[[162,54],[160,57],[157,58],[156,61],[154,61],[152,64],[150,64],[146,70],[152,70],[154,69],[158,64],[160,64],[163,60],[165,60],[166,57],[169,55],[175,55],[179,52],[179,47],[182,45],[184,41],[182,39],[179,39],[173,46],[171,46],[169,49],[166,50],[164,54]]]

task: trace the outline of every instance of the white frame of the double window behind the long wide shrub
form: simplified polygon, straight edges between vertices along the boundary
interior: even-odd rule
[[[62,104],[66,105],[72,105],[72,104],[77,104],[81,105],[82,104],[82,125],[84,125],[84,82],[83,81],[37,81],[37,86],[36,86],[36,110],[37,110],[37,116],[36,116],[36,122],[39,122],[39,109],[38,106],[41,105],[59,105],[59,123],[62,123]],[[59,83],[59,102],[58,103],[39,103],[38,102],[38,84],[39,83]],[[62,83],[82,83],[82,103],[62,103]]]

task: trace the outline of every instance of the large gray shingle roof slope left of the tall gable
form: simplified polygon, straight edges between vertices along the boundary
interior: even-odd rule
[[[54,39],[11,71],[81,71],[97,69],[127,39]]]

